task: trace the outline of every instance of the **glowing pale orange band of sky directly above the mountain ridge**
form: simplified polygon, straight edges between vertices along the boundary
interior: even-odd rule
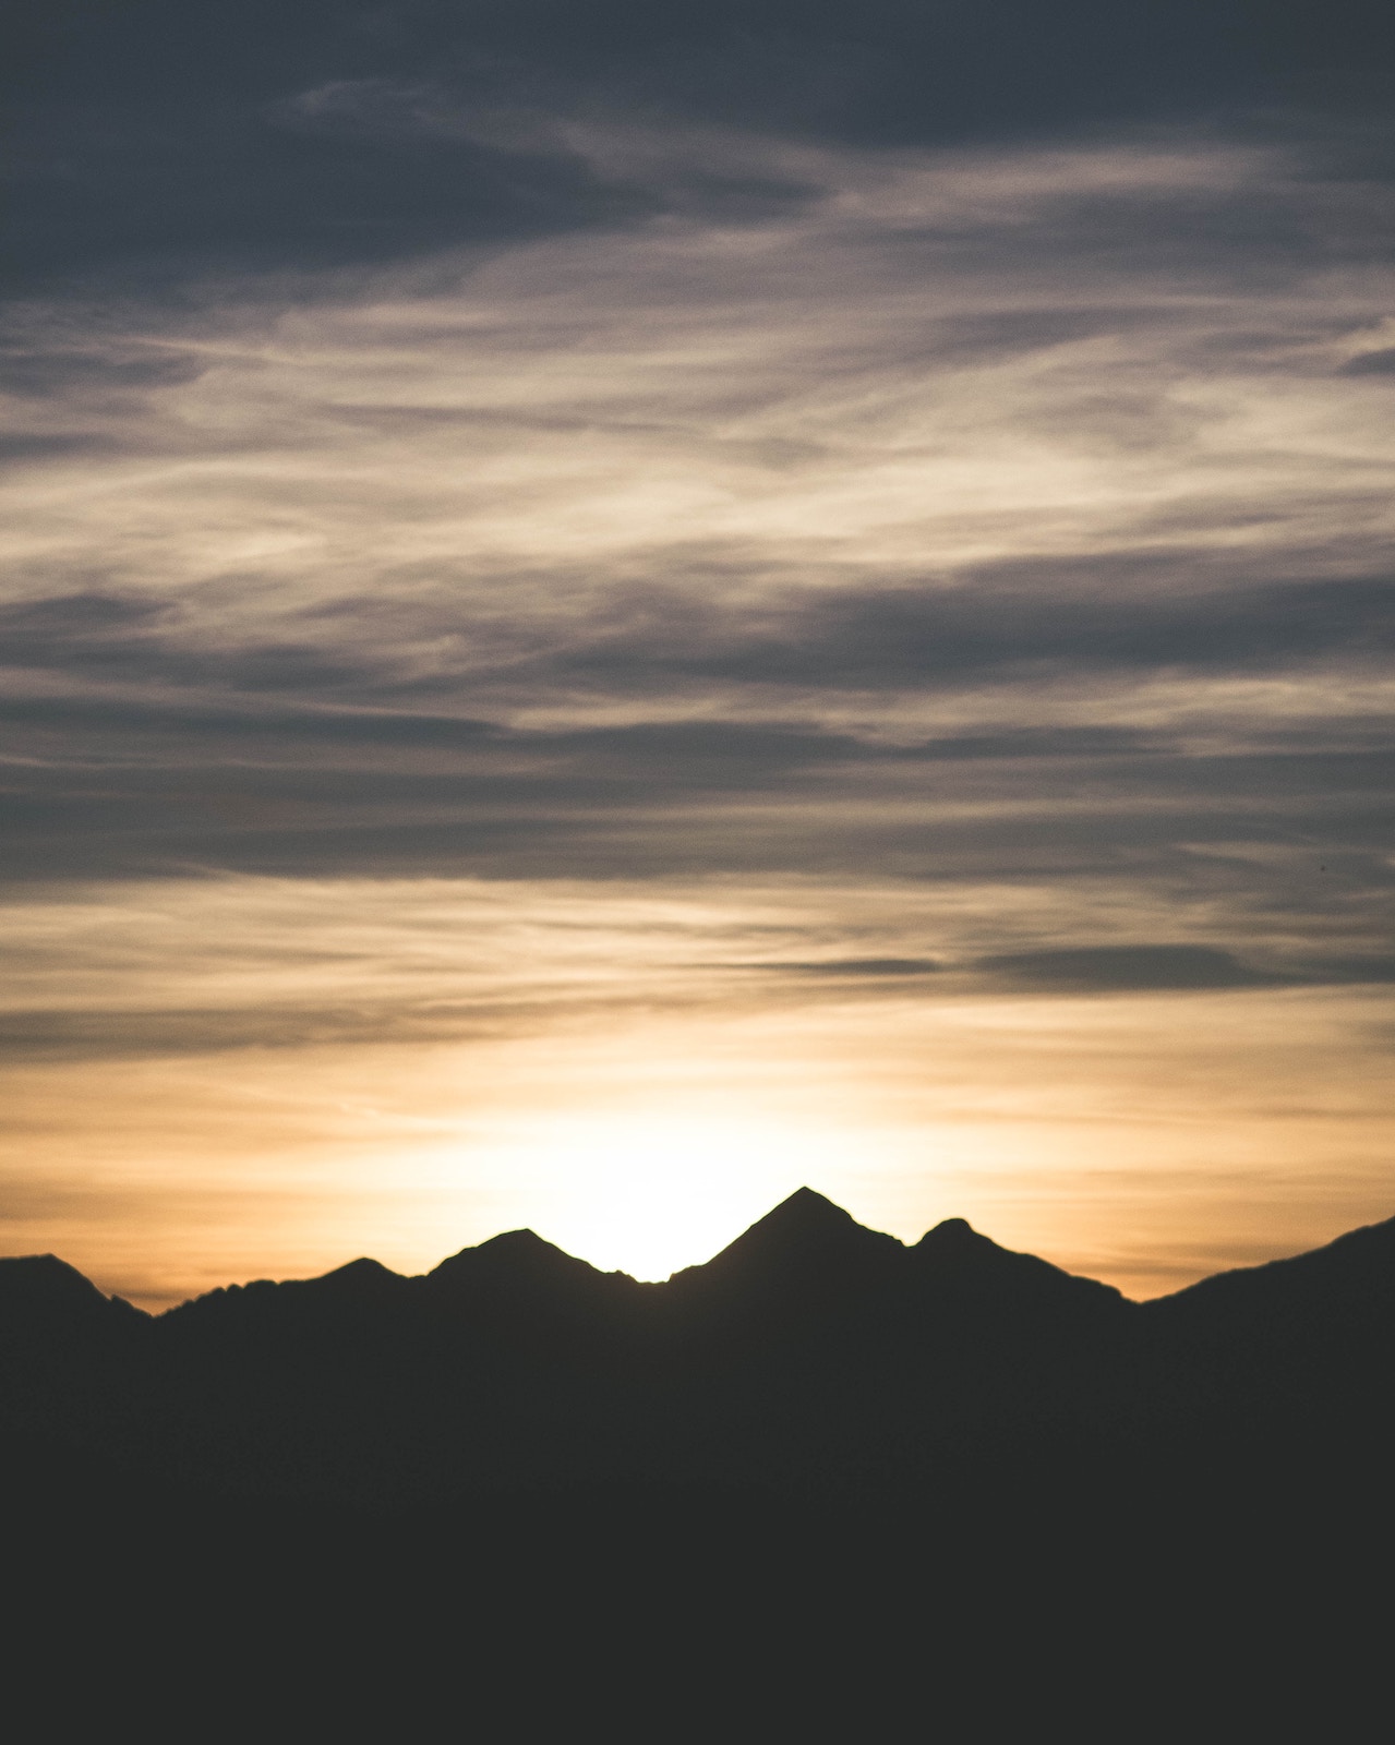
[[[1383,988],[887,974],[1034,906],[972,895],[244,878],[10,911],[82,1024],[0,1078],[5,1246],[152,1307],[519,1225],[663,1277],[812,1183],[1144,1297],[1388,1215]],[[791,958],[849,916],[866,972]]]

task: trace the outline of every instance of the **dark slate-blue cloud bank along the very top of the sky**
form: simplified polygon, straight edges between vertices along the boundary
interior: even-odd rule
[[[1282,17],[1201,0],[660,16],[634,0],[119,14],[86,0],[21,35],[3,94],[10,260],[28,286],[96,270],[168,290],[215,262],[358,267],[805,197],[768,162],[639,150],[637,120],[651,136],[883,152],[1247,112],[1262,131],[1276,110],[1350,131],[1395,73],[1395,33],[1357,0]],[[625,122],[627,150],[597,143]],[[1252,239],[1262,223],[1252,208]]]

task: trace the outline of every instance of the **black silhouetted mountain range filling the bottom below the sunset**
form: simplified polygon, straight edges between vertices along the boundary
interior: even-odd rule
[[[882,1738],[920,1684],[917,1736],[1330,1733],[1392,1621],[1395,1222],[1151,1304],[808,1190],[665,1284],[512,1232],[148,1317],[23,1258],[0,1387],[59,1707],[396,1731],[457,1677],[471,1736]]]

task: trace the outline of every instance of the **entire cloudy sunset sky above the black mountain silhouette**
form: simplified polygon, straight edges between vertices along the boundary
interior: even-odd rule
[[[1395,1213],[1395,23],[54,0],[0,1251]]]

